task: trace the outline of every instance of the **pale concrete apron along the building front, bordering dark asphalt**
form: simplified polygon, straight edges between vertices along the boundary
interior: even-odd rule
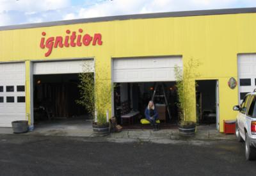
[[[0,134],[13,134],[11,128],[0,128]],[[93,134],[91,122],[77,124],[45,124],[35,128],[32,132],[22,135],[42,135],[42,136],[73,136],[90,138],[91,140],[133,142],[150,141],[157,143],[172,143],[177,140],[235,140],[234,134],[223,134],[216,131],[214,125],[200,125],[197,127],[195,136],[182,137],[178,129],[152,130],[125,130],[111,133],[108,136],[97,137]]]

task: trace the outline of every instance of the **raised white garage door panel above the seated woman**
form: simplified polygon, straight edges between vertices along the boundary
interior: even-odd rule
[[[175,81],[174,67],[182,67],[182,58],[113,59],[113,82]]]

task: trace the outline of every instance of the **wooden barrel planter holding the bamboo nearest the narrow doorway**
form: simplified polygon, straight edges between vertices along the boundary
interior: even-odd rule
[[[196,131],[196,124],[195,122],[185,122],[179,124],[179,134],[181,136],[194,136]]]

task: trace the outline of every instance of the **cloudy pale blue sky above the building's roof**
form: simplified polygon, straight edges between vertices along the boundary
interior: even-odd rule
[[[256,0],[0,0],[0,26],[135,13],[255,6]]]

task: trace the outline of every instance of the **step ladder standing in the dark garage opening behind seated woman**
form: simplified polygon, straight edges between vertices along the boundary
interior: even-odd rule
[[[168,116],[169,118],[171,119],[172,116],[171,116],[171,113],[170,113],[170,109],[169,109],[169,106],[168,106],[168,100],[166,98],[166,92],[165,92],[165,86],[164,86],[164,83],[156,83],[154,85],[154,92],[153,92],[153,95],[152,95],[152,101],[154,101],[155,97],[163,97],[164,98],[164,104],[166,106],[166,109],[167,109],[167,112],[168,112]],[[159,94],[157,94],[159,93]]]

